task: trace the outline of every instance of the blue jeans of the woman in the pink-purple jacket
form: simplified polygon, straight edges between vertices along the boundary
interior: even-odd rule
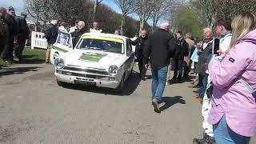
[[[214,138],[218,144],[249,144],[250,137],[236,134],[226,123],[226,116],[223,115],[218,124],[214,126]]]

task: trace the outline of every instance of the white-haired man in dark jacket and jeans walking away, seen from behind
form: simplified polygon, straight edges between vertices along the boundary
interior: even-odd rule
[[[171,36],[168,22],[163,22],[160,29],[148,38],[145,49],[144,62],[146,69],[150,61],[152,71],[152,104],[154,111],[160,113],[159,103],[162,102],[162,93],[166,86],[167,66],[173,46],[170,46]]]

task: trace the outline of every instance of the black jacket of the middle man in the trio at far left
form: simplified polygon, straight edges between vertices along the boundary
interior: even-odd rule
[[[10,39],[13,39],[18,31],[18,26],[17,23],[15,21],[15,18],[13,16],[11,16],[10,14],[6,14],[6,22],[8,24],[9,27],[9,33],[10,33]]]

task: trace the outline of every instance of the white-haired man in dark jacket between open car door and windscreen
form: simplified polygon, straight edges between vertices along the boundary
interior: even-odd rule
[[[78,29],[71,33],[73,46],[76,46],[82,34],[86,33],[86,23],[83,21],[78,22]]]

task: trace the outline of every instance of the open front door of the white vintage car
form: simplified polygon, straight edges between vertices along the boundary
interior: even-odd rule
[[[50,50],[50,62],[54,64],[54,60],[64,57],[65,54],[73,50],[72,37],[70,33],[59,31],[56,42]]]

